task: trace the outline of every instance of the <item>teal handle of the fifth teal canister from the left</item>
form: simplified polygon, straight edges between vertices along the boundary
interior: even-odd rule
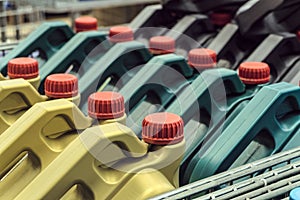
[[[216,94],[216,91],[220,93]],[[176,113],[187,122],[196,109],[195,105],[201,109],[205,109],[210,116],[216,120],[217,115],[225,113],[224,101],[217,100],[215,97],[225,98],[226,95],[239,94],[245,92],[245,85],[239,79],[237,73],[229,69],[211,69],[202,72],[181,94],[177,96],[175,101],[167,109],[168,112]],[[215,93],[216,96],[213,96]],[[225,95],[225,96],[223,96]],[[214,108],[214,111],[212,111]]]

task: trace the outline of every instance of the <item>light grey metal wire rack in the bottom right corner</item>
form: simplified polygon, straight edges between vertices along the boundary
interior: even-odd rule
[[[283,199],[299,186],[300,147],[182,186],[151,200]]]

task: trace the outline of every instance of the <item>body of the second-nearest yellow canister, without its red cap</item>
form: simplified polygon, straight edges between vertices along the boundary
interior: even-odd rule
[[[0,136],[0,174],[8,173],[0,188],[9,195],[17,195],[78,137],[77,130],[91,124],[92,119],[68,100],[35,104]],[[26,152],[38,160],[33,166],[30,158],[23,156],[22,159],[21,155]],[[8,185],[11,179],[17,179],[18,183]]]

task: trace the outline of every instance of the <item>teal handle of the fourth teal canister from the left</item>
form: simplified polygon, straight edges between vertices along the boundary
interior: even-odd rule
[[[120,90],[124,96],[125,105],[129,109],[138,101],[153,91],[166,105],[181,84],[188,83],[193,70],[187,65],[184,57],[167,54],[153,57],[141,70]],[[171,91],[172,90],[172,91]]]

